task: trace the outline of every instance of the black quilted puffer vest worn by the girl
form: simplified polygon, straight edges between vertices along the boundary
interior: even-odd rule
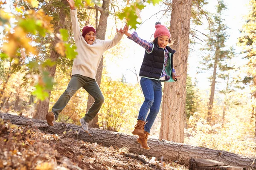
[[[152,42],[153,43],[153,42]],[[163,48],[159,48],[155,43],[151,53],[145,51],[143,63],[140,68],[140,77],[146,77],[150,79],[159,80],[164,69],[164,59],[165,51]],[[172,56],[175,50],[172,50],[170,47],[166,46],[166,49],[172,53],[171,59],[171,68],[172,68]]]

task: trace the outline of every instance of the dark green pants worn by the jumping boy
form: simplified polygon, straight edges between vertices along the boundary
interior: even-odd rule
[[[53,105],[52,112],[55,114],[55,119],[58,119],[59,113],[65,108],[70,98],[79,90],[79,88],[83,87],[84,90],[88,92],[93,98],[95,102],[90,107],[89,111],[85,114],[84,120],[86,122],[90,122],[96,114],[99,112],[103,102],[104,96],[99,89],[99,85],[95,81],[95,79],[91,79],[89,77],[85,77],[79,74],[75,74],[72,76],[70,82],[67,85],[67,89],[60,96],[58,101]]]

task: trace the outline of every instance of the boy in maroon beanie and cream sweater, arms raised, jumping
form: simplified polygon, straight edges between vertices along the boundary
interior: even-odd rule
[[[96,30],[93,26],[85,26],[81,34],[74,0],[67,0],[67,2],[70,5],[71,22],[78,55],[74,59],[72,78],[67,89],[53,105],[52,111],[47,113],[46,120],[48,125],[53,126],[53,122],[58,119],[58,114],[65,108],[73,94],[83,87],[95,99],[88,113],[80,119],[83,129],[88,133],[88,123],[96,116],[104,102],[102,92],[95,81],[99,62],[103,53],[115,46],[122,39],[123,34],[121,34],[122,29],[116,29],[117,34],[113,40],[96,40]]]

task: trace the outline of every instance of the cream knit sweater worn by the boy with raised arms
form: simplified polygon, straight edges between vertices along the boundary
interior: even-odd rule
[[[76,43],[76,52],[78,55],[74,59],[72,75],[80,74],[82,76],[96,79],[96,71],[99,66],[100,59],[105,51],[115,46],[121,39],[123,34],[116,32],[113,40],[96,40],[92,45],[87,44],[82,37],[79,22],[77,19],[76,9],[70,10],[74,39]]]

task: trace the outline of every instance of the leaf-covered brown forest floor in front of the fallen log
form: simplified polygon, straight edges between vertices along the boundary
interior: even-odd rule
[[[129,153],[126,147],[104,147],[0,122],[1,170],[187,170],[175,162]]]

